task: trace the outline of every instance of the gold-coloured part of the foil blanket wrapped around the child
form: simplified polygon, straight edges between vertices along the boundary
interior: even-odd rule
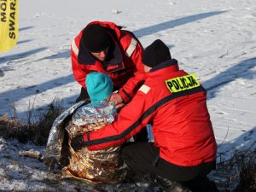
[[[107,122],[92,123],[90,125],[68,125],[68,145],[71,154],[69,165],[62,169],[63,177],[79,177],[96,183],[119,183],[125,177],[125,165],[119,158],[120,147],[105,148],[90,151],[84,147],[74,151],[70,145],[71,138],[79,136],[87,131],[94,131]]]

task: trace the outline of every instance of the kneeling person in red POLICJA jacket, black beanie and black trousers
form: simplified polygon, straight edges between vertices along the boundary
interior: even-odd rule
[[[138,173],[150,172],[192,192],[218,191],[207,174],[215,169],[217,144],[207,92],[195,74],[180,70],[160,40],[145,49],[146,80],[112,125],[73,139],[73,147],[109,148],[152,124],[154,143],[127,143],[122,158]]]

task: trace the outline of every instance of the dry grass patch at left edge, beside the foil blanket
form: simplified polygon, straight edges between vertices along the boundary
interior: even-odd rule
[[[9,119],[3,115],[0,117],[1,136],[16,138],[20,143],[32,142],[37,145],[46,145],[50,128],[62,110],[62,102],[55,99],[38,115],[33,115],[33,109],[29,110],[26,124],[21,124],[16,117]],[[33,120],[32,117],[34,117]]]

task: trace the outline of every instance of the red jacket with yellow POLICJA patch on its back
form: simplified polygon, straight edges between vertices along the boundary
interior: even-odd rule
[[[216,159],[206,90],[195,76],[179,70],[174,59],[146,73],[145,83],[118,119],[85,134],[84,142],[90,150],[125,143],[148,123],[153,124],[154,144],[162,159],[178,166],[197,166]]]

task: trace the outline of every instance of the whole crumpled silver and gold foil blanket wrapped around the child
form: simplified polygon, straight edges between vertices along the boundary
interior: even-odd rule
[[[90,104],[84,104],[76,103],[55,119],[49,133],[44,162],[49,168],[54,167],[55,163],[61,166],[61,177],[76,177],[94,183],[122,182],[127,166],[119,157],[120,146],[96,151],[86,147],[74,151],[71,147],[73,137],[110,124],[116,115],[111,102],[104,108],[92,108]]]

